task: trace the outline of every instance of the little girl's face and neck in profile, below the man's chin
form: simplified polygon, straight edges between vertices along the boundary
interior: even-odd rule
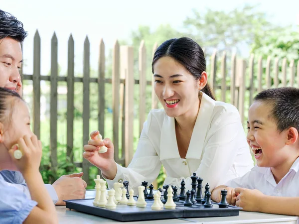
[[[24,101],[16,97],[6,100],[7,110],[0,122],[0,170],[17,170],[12,162],[8,149],[24,135],[33,135],[30,129],[30,115]]]

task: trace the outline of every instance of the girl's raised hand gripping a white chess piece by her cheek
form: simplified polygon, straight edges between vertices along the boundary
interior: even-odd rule
[[[40,140],[37,139],[36,135],[24,135],[22,138],[19,138],[17,144],[18,145],[13,145],[12,148],[8,150],[8,153],[18,170],[23,176],[38,171],[42,153]],[[13,156],[13,152],[17,149],[22,152],[20,159],[15,159]]]

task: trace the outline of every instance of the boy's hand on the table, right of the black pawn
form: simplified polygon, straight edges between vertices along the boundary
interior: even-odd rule
[[[243,208],[243,211],[260,212],[260,202],[265,196],[257,189],[250,190],[246,188],[235,188],[238,195],[236,199],[236,206]]]

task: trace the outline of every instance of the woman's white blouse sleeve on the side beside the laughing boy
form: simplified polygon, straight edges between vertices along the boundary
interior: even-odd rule
[[[226,179],[238,149],[247,144],[243,138],[240,139],[240,134],[243,134],[244,138],[244,130],[237,110],[230,112],[224,110],[212,120],[202,160],[196,171],[196,175],[204,180],[203,187],[208,183],[212,191]],[[229,179],[223,181],[222,184],[227,180]],[[186,185],[190,185],[192,180],[188,177],[185,182]]]

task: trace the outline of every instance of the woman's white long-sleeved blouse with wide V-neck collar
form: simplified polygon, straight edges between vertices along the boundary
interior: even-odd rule
[[[178,191],[183,179],[186,189],[191,189],[193,172],[203,179],[203,186],[210,185],[210,191],[243,176],[253,160],[238,110],[203,93],[185,159],[178,152],[174,118],[163,109],[150,111],[131,163],[127,168],[117,164],[117,174],[107,180],[108,186],[112,189],[117,181],[129,181],[137,194],[143,181],[150,184],[156,179],[161,164],[166,170],[164,185],[175,185]]]

